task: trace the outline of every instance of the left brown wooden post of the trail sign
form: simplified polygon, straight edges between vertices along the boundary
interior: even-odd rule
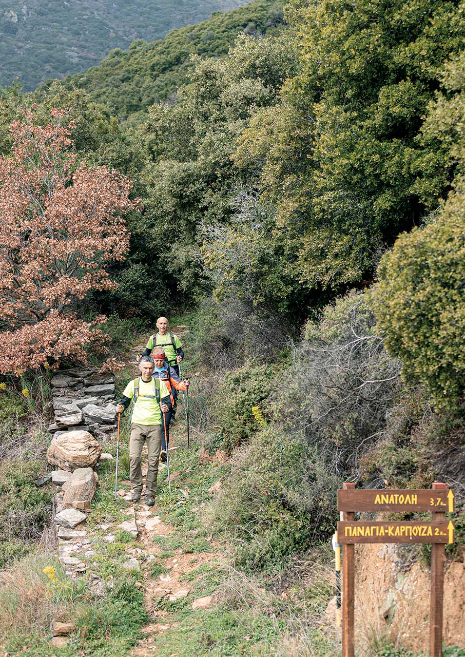
[[[343,484],[343,489],[355,484]],[[342,520],[354,520],[353,511],[343,511]],[[342,657],[355,655],[355,545],[344,545],[342,550]]]

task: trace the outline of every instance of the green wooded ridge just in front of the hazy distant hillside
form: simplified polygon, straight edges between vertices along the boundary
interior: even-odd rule
[[[93,100],[110,104],[120,118],[127,119],[169,98],[185,83],[190,55],[225,55],[238,32],[268,34],[282,21],[280,0],[254,0],[245,7],[215,12],[204,22],[173,30],[160,41],[137,40],[128,51],[115,49],[99,66],[66,78],[64,85],[82,87]]]

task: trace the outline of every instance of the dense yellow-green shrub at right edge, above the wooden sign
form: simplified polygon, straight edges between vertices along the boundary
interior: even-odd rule
[[[464,208],[461,178],[437,221],[397,238],[371,295],[387,350],[438,409],[465,394]]]

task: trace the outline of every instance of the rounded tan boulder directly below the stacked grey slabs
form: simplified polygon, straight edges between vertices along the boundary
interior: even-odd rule
[[[47,460],[72,472],[76,468],[93,468],[101,453],[102,447],[88,431],[68,431],[47,449]]]

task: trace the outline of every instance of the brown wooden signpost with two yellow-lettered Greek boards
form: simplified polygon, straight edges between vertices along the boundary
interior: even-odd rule
[[[342,657],[355,654],[355,543],[431,543],[430,657],[442,657],[445,544],[454,542],[454,524],[445,512],[454,510],[454,493],[435,482],[431,490],[356,490],[343,484],[338,491],[337,542],[342,552]],[[356,511],[432,512],[432,522],[355,521]]]

